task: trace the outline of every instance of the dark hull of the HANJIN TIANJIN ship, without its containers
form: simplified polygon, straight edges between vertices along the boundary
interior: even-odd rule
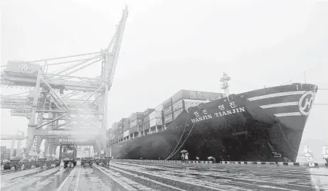
[[[110,146],[114,158],[294,162],[317,87],[290,84],[183,111],[165,131]]]

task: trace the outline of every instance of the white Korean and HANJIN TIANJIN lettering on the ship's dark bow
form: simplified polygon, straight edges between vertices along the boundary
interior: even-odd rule
[[[226,99],[226,102],[220,99],[190,109],[191,121],[194,123],[233,114],[243,114],[243,112],[245,112],[244,102],[238,98],[233,101]]]

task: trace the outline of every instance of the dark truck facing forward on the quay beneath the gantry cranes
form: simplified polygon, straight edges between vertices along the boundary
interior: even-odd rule
[[[60,144],[59,160],[63,161],[64,168],[74,167],[77,159],[77,146],[75,144]]]

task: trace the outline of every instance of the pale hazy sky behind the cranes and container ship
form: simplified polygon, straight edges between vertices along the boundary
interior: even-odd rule
[[[221,92],[223,71],[232,78],[231,93],[305,82],[305,71],[307,83],[328,88],[327,1],[7,0],[1,65],[106,48],[125,5],[108,126],[180,89]],[[1,94],[22,91],[1,87]],[[315,102],[327,104],[327,97],[319,90]],[[302,143],[316,138],[328,145],[327,110],[312,108]],[[26,131],[27,123],[1,110],[1,133]]]

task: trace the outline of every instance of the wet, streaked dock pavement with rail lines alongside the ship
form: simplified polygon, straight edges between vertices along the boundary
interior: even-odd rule
[[[110,168],[77,165],[75,168],[51,168],[34,174],[25,170],[11,173],[1,176],[1,190],[328,191],[328,168],[127,163],[115,160]]]

